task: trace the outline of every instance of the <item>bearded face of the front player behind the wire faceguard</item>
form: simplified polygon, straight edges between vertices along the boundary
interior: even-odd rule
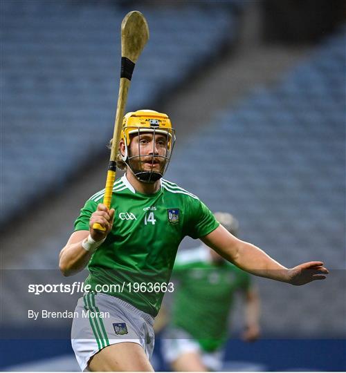
[[[129,157],[136,171],[163,173],[167,162],[167,135],[161,133],[140,133],[131,137]]]

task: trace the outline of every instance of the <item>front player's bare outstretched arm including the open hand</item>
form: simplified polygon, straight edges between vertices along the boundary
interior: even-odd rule
[[[307,262],[288,269],[255,245],[239,240],[221,225],[201,240],[226,260],[256,276],[304,285],[314,280],[323,280],[328,274],[322,262]]]

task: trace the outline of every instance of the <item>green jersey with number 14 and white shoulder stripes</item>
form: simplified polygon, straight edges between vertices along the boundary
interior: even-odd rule
[[[89,231],[103,196],[104,190],[86,201],[75,231]],[[156,316],[165,291],[173,289],[166,284],[181,240],[206,236],[219,223],[199,198],[167,180],[147,195],[136,192],[124,175],[114,183],[111,208],[113,228],[89,261],[85,285]]]

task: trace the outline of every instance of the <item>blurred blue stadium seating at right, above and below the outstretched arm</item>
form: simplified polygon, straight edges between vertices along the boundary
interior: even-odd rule
[[[258,279],[262,325],[271,334],[345,335],[345,296],[335,295],[345,286],[344,79],[341,28],[278,84],[216,113],[167,172],[214,211],[228,206],[241,236],[284,265],[318,258],[333,271],[324,287],[299,291]],[[321,292],[328,311],[320,309]],[[318,317],[300,318],[317,309]]]

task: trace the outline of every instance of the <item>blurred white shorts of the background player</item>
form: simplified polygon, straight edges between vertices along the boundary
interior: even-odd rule
[[[209,370],[220,371],[222,366],[223,350],[206,352],[201,349],[196,341],[188,332],[179,328],[170,328],[163,335],[161,341],[161,352],[163,358],[169,364],[176,361],[179,356],[187,352],[196,352],[201,356],[201,360]]]

